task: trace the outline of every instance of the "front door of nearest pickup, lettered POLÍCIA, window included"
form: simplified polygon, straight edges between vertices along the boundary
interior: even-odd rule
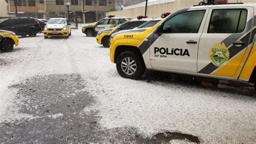
[[[208,9],[178,13],[161,24],[163,34],[150,46],[153,69],[197,73],[198,44],[207,12]]]

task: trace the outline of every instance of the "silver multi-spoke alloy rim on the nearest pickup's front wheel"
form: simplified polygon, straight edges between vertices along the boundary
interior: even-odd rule
[[[122,60],[121,68],[127,75],[132,75],[137,70],[137,64],[131,57],[125,57]]]

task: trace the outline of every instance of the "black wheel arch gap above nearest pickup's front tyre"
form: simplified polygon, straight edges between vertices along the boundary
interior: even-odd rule
[[[142,52],[139,51],[139,48],[136,47],[136,46],[127,46],[127,45],[122,45],[122,46],[118,46],[116,48],[116,51],[114,52],[114,63],[117,62],[117,57],[123,53],[123,52],[132,52],[132,53],[135,53],[137,54],[140,59],[142,59],[143,63],[144,62],[144,59],[143,59],[143,56],[142,56]]]

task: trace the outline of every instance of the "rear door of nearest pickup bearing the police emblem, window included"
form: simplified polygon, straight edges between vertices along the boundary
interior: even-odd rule
[[[252,12],[252,8],[210,9],[199,43],[199,73],[227,77],[237,73],[250,40]]]

